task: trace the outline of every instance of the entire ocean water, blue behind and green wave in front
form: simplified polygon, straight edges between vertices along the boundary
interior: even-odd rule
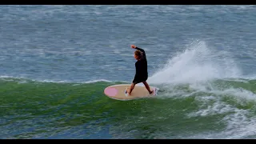
[[[0,138],[255,139],[256,6],[0,6]],[[154,98],[118,101],[146,50]]]

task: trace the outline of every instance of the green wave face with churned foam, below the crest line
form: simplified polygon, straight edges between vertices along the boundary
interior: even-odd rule
[[[154,84],[155,98],[117,101],[123,82],[1,78],[2,138],[254,138],[256,79]]]

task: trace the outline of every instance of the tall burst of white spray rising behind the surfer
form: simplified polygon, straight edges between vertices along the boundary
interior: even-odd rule
[[[193,43],[185,51],[170,58],[166,65],[157,70],[148,82],[196,83],[214,78],[238,78],[240,70],[228,52],[214,50],[206,42]]]

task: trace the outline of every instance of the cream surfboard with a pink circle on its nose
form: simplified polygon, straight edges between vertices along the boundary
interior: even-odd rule
[[[127,93],[127,90],[130,90],[130,84],[120,84],[106,87],[104,90],[104,94],[106,94],[106,96],[108,96],[109,98],[127,101],[132,99],[150,98],[156,96],[158,93],[158,88],[150,86],[150,89],[154,90],[153,94],[150,94],[149,91],[146,90],[146,87],[144,85],[135,85],[134,90],[129,95]]]

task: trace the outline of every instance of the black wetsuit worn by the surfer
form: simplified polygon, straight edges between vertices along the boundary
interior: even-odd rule
[[[147,73],[147,62],[146,62],[146,53],[143,49],[136,47],[136,50],[142,52],[142,58],[135,63],[136,74],[134,76],[134,84],[139,82],[146,82],[148,73]]]

